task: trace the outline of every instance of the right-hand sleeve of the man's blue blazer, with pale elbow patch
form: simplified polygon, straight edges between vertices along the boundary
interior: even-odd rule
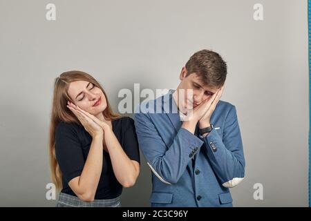
[[[242,182],[245,176],[245,159],[235,106],[232,105],[225,118],[223,139],[215,128],[201,139],[205,142],[211,166],[223,186],[230,188]]]

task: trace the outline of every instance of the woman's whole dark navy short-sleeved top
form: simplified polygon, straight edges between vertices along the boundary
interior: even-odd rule
[[[131,160],[140,163],[137,135],[134,120],[131,117],[121,117],[112,121],[113,133],[120,142],[124,152]],[[60,122],[55,131],[55,155],[62,171],[62,193],[75,195],[68,182],[81,175],[90,150],[92,137],[77,123]],[[95,200],[112,199],[122,193],[122,185],[113,173],[109,153],[103,149],[103,165],[100,182],[95,193]],[[75,195],[77,196],[77,195]]]

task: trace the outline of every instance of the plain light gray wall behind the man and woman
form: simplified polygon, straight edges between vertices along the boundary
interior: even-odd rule
[[[48,3],[56,21],[46,20]],[[234,206],[308,206],[307,21],[307,1],[296,0],[0,0],[0,206],[56,204],[46,200],[47,145],[60,73],[91,73],[117,111],[117,93],[134,83],[176,88],[202,48],[227,61],[222,99],[238,111],[246,178],[232,189]],[[149,206],[143,159],[123,206]],[[253,198],[256,183],[263,200]]]

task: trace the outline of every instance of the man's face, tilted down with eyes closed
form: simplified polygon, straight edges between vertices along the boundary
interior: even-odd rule
[[[178,86],[178,89],[184,89],[185,91],[185,100],[180,100],[179,102],[183,102],[183,107],[186,109],[191,109],[192,104],[193,108],[204,102],[206,99],[210,99],[214,93],[216,93],[217,89],[216,87],[211,88],[206,86],[201,80],[200,77],[196,73],[192,73],[191,75],[187,75],[187,70],[185,67],[182,68],[182,71],[180,73],[180,85]],[[190,90],[189,90],[190,89]],[[187,93],[187,91],[192,91],[191,93]],[[190,97],[189,97],[190,96]]]

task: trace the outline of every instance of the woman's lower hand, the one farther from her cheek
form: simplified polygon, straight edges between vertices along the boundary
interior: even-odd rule
[[[82,112],[81,108],[77,108],[74,104],[68,102],[67,107],[73,114],[79,119],[79,122],[84,126],[85,130],[94,138],[96,135],[103,135],[104,131],[100,125],[98,125],[94,120],[86,115],[86,111]],[[82,111],[80,111],[82,110]],[[95,117],[96,118],[96,117]]]

